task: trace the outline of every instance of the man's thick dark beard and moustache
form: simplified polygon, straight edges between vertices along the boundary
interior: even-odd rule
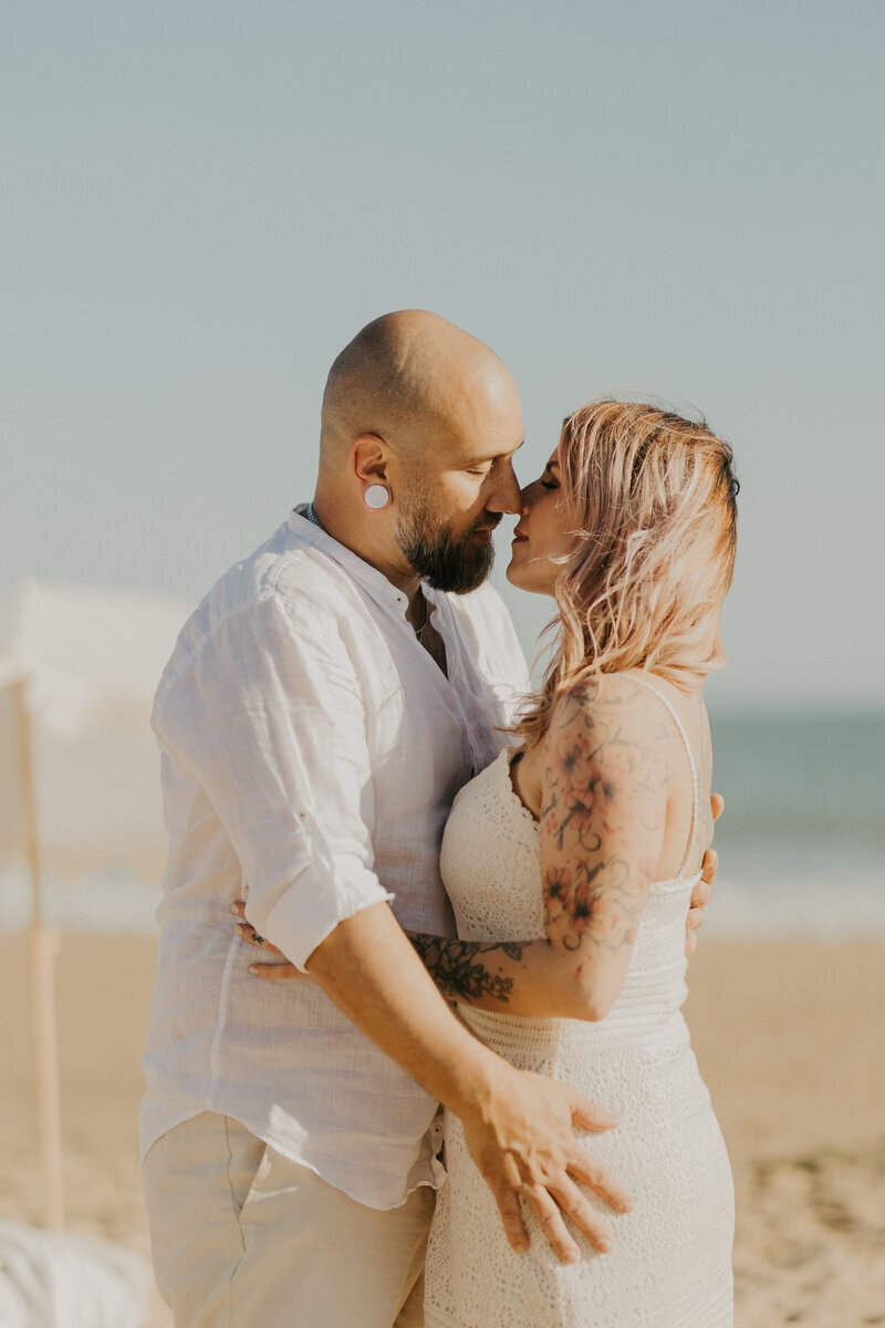
[[[397,543],[410,567],[431,590],[466,595],[482,586],[495,562],[491,539],[474,539],[475,530],[496,526],[500,515],[482,513],[463,535],[455,535],[448,522],[435,517],[423,495],[406,501],[397,526]]]

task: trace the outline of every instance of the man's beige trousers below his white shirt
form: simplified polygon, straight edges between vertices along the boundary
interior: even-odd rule
[[[175,1328],[423,1324],[429,1186],[368,1208],[211,1112],[163,1134],[143,1173]]]

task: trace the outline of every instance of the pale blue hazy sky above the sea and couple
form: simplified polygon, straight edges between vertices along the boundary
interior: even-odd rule
[[[601,392],[732,444],[714,708],[885,709],[884,54],[878,0],[12,0],[0,587],[196,602],[423,307],[516,377],[525,482]]]

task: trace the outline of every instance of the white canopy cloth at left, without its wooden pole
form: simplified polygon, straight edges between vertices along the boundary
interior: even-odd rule
[[[166,853],[151,697],[190,606],[161,595],[20,580],[0,595],[0,861],[24,855],[21,693],[41,859],[53,872]]]

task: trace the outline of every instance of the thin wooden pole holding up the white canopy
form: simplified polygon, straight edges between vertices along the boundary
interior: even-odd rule
[[[54,965],[58,934],[44,923],[42,867],[40,861],[40,827],[37,789],[33,768],[33,726],[28,706],[28,681],[19,679],[19,778],[24,818],[25,857],[31,875],[31,1019],[33,1024],[34,1062],[37,1074],[37,1126],[44,1170],[45,1227],[62,1227],[65,1222],[61,1157],[61,1090],[58,1085],[58,1038],[56,1035]]]

